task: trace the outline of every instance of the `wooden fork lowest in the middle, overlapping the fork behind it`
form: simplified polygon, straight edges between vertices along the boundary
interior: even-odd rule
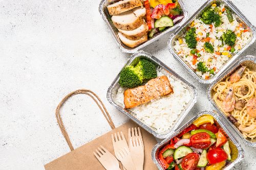
[[[120,151],[117,151],[117,155],[122,162],[123,166],[127,170],[136,170],[136,167],[133,163],[131,153],[128,148],[122,148]]]

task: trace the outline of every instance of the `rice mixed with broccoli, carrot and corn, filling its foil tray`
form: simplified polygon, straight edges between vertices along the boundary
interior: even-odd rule
[[[212,78],[247,43],[252,33],[224,4],[213,4],[175,41],[176,53],[202,79]]]

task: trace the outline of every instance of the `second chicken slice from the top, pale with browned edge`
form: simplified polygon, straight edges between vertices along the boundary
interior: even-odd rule
[[[137,17],[132,10],[113,15],[111,19],[115,27],[121,30],[134,30],[144,23],[142,17]]]

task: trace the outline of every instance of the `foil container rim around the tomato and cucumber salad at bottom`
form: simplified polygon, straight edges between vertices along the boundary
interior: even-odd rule
[[[237,150],[238,150],[238,157],[236,160],[234,160],[233,162],[228,162],[227,165],[223,168],[223,170],[227,170],[227,169],[231,169],[235,164],[237,164],[238,162],[240,162],[243,158],[244,158],[244,150],[242,148],[242,146],[240,145],[240,143],[238,142],[238,140],[236,139],[236,137],[233,136],[233,134],[228,130],[223,117],[220,115],[218,115],[218,113],[212,112],[212,111],[202,111],[199,112],[196,116],[194,116],[193,118],[191,118],[188,123],[186,123],[185,125],[183,125],[181,128],[179,128],[176,131],[173,131],[172,134],[170,134],[169,137],[167,137],[166,139],[164,139],[162,142],[157,143],[155,145],[155,147],[152,150],[152,159],[153,162],[157,165],[158,169],[160,170],[164,170],[161,166],[161,163],[158,160],[158,153],[159,151],[164,147],[164,145],[168,144],[170,142],[170,139],[172,139],[173,137],[175,137],[176,135],[178,135],[180,132],[182,132],[185,128],[189,127],[198,117],[202,116],[202,115],[212,115],[217,123],[223,128],[223,130],[226,132],[226,134],[229,136],[229,139],[234,143],[234,145],[236,145]]]

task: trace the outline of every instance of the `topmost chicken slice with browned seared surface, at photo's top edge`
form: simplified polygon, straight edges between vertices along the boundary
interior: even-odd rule
[[[141,0],[123,0],[117,3],[108,5],[107,8],[109,10],[110,15],[117,15],[125,11],[129,11],[136,7],[141,7]]]

